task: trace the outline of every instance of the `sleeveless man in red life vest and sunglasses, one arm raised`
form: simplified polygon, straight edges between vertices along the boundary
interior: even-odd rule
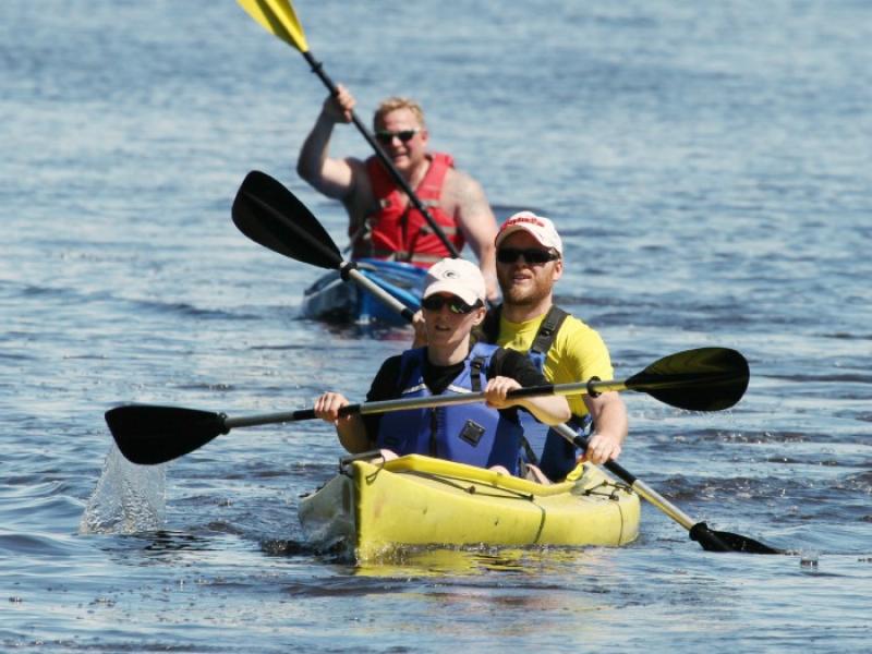
[[[424,216],[397,186],[377,157],[363,161],[328,156],[334,126],[350,122],[354,98],[339,85],[303,143],[296,171],[320,193],[340,199],[349,215],[352,258],[372,256],[428,268],[450,253]],[[407,98],[383,101],[373,119],[376,138],[393,167],[458,251],[469,243],[479,258],[489,299],[497,298],[496,219],[481,184],[427,150],[421,107]]]

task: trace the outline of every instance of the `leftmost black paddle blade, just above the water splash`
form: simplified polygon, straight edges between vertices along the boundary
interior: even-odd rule
[[[110,409],[106,424],[124,458],[140,465],[172,461],[228,432],[220,413],[144,404]]]

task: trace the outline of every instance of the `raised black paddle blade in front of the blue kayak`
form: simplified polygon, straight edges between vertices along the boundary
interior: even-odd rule
[[[312,211],[281,182],[253,170],[237,192],[233,222],[255,243],[305,264],[330,270],[342,255]]]

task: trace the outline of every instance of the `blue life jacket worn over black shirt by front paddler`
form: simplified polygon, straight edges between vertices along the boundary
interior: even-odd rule
[[[487,385],[487,367],[497,346],[476,343],[462,372],[443,395],[480,392]],[[407,350],[400,362],[400,397],[433,393],[424,384],[426,348]],[[520,411],[513,412],[516,414]],[[518,474],[521,426],[484,402],[392,411],[382,416],[376,446],[398,455],[427,455],[480,468],[504,465]]]

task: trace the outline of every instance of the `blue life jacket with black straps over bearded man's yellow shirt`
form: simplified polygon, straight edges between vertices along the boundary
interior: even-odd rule
[[[496,311],[492,312],[484,325],[484,332],[491,341],[497,340],[500,308],[497,307]],[[545,319],[542,320],[533,343],[526,352],[528,358],[540,372],[544,372],[548,350],[550,350],[560,325],[564,324],[568,315],[559,306],[552,305]],[[566,477],[576,468],[576,460],[580,455],[579,448],[526,412],[519,412],[518,414],[524,431],[521,441],[521,459],[525,463],[538,465],[549,480],[557,481]],[[573,414],[567,421],[567,424],[577,434],[588,435],[593,426],[593,421],[590,414]]]

